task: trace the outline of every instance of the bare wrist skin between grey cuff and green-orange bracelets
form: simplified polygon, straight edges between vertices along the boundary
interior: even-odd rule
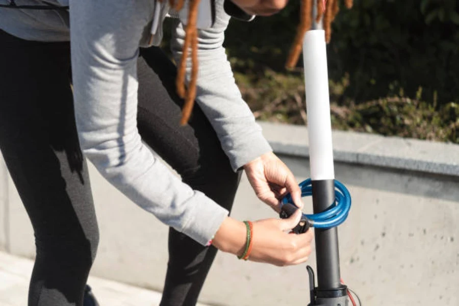
[[[246,246],[247,230],[243,222],[226,217],[220,225],[212,245],[223,252],[241,256]]]

